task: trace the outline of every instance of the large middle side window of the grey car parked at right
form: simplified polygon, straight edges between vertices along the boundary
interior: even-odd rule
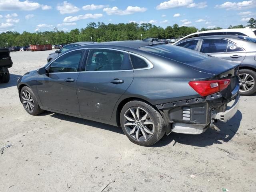
[[[228,40],[224,39],[204,39],[200,52],[202,53],[222,53],[226,52]]]

